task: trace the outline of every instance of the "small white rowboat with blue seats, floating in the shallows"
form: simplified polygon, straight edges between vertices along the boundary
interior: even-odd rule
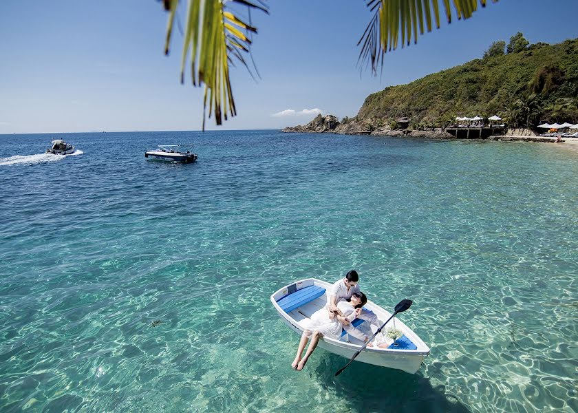
[[[327,293],[331,286],[332,284],[315,278],[302,279],[279,289],[271,295],[271,302],[281,319],[293,331],[301,335],[305,330],[303,321],[309,319],[315,311],[327,304]],[[392,316],[392,313],[372,301],[367,301],[363,308],[374,312],[383,322]],[[419,370],[424,357],[429,354],[429,347],[402,321],[394,320],[396,329],[403,332],[403,336],[394,341],[388,348],[366,347],[355,360],[414,374]],[[394,320],[389,321],[383,331],[392,327]],[[353,325],[356,326],[361,322],[367,321],[356,319]],[[376,331],[376,328],[372,327],[372,329],[374,332]],[[319,340],[319,346],[329,352],[351,359],[361,346],[350,343],[348,339],[349,336],[343,331],[341,339],[323,337]],[[295,346],[297,347],[297,341]]]

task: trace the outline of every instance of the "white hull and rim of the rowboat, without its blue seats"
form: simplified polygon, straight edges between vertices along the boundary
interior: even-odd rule
[[[305,328],[301,325],[300,321],[295,318],[297,313],[301,313],[299,308],[295,309],[295,312],[292,310],[289,313],[286,313],[281,309],[277,301],[282,297],[288,296],[288,287],[296,285],[297,288],[305,288],[306,286],[321,286],[325,288],[325,295],[315,299],[312,301],[314,304],[317,305],[317,308],[321,308],[327,302],[327,291],[331,287],[331,284],[323,282],[319,279],[304,279],[299,282],[295,282],[293,284],[289,284],[281,289],[279,289],[276,293],[271,295],[271,302],[279,316],[287,324],[291,330],[293,330],[297,335],[303,334]],[[319,300],[319,301],[317,301]],[[315,302],[317,301],[317,303]],[[379,319],[382,321],[386,321],[392,314],[388,311],[384,310],[380,306],[377,306],[372,301],[367,301],[365,308],[368,310],[373,311],[378,315]],[[301,313],[303,314],[303,313]],[[387,324],[386,328],[391,326]],[[403,324],[402,321],[396,319],[396,328],[402,330],[404,335],[409,337],[413,343],[416,345],[416,350],[397,350],[397,349],[389,349],[389,348],[365,348],[355,359],[355,361],[361,361],[362,363],[373,364],[374,366],[381,366],[386,368],[394,368],[397,370],[403,370],[405,372],[415,374],[420,365],[425,358],[429,354],[429,347],[416,335],[416,333],[411,330],[411,328],[407,327]],[[346,359],[351,359],[353,355],[361,348],[361,346],[357,346],[356,344],[350,343],[348,341],[340,341],[331,339],[328,337],[323,337],[319,340],[319,347],[332,352],[334,354],[338,354]]]

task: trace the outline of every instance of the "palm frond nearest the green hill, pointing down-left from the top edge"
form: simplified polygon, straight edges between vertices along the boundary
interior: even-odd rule
[[[417,43],[418,30],[421,35],[424,28],[431,32],[432,23],[440,28],[440,1],[448,23],[452,17],[451,3],[458,20],[469,19],[478,10],[478,0],[451,0],[451,3],[450,0],[366,0],[373,17],[357,43],[361,45],[358,65],[365,61],[371,65],[372,73],[377,74],[378,66],[383,67],[386,52],[396,50],[399,43],[401,47],[409,45],[412,36]],[[482,7],[486,6],[486,0],[479,1]]]

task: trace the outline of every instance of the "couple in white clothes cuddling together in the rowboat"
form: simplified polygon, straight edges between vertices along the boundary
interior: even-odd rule
[[[383,324],[374,313],[363,308],[367,303],[367,297],[359,290],[358,281],[359,275],[352,270],[343,279],[333,284],[328,292],[327,306],[317,310],[310,319],[305,321],[306,330],[301,335],[297,355],[291,363],[292,368],[303,370],[321,337],[339,340],[343,329],[349,335],[351,343],[362,345],[373,335],[369,325],[379,327]],[[360,328],[356,328],[351,324],[356,318],[368,321],[368,323],[363,323]],[[378,337],[375,341],[376,346],[387,348],[389,343],[385,343],[381,335]],[[309,348],[305,356],[301,357],[309,339],[311,339]],[[373,343],[368,343],[367,347],[373,347]]]

